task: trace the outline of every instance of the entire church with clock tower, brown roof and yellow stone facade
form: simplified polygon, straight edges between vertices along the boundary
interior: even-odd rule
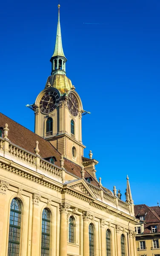
[[[51,76],[29,107],[35,132],[0,113],[0,255],[136,256],[134,202],[83,157],[80,96],[66,77],[60,6]]]

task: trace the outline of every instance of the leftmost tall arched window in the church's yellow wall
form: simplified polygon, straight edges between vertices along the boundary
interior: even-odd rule
[[[21,205],[17,198],[11,201],[9,219],[8,256],[19,256],[20,251]]]

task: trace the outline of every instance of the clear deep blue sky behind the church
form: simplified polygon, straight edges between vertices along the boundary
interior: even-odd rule
[[[57,1],[3,1],[0,112],[34,131],[34,103],[51,73]],[[135,204],[160,201],[160,1],[60,1],[67,76],[83,108],[85,156],[103,186]],[[97,23],[97,24],[85,24]]]

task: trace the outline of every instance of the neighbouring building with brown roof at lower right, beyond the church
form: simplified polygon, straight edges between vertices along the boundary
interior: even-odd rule
[[[160,256],[160,207],[134,206],[137,256]]]

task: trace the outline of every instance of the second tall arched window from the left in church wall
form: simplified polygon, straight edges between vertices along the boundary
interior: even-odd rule
[[[50,214],[45,208],[42,213],[41,256],[49,256]]]

